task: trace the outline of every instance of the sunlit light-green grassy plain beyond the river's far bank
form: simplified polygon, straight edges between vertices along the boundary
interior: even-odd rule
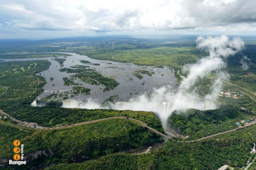
[[[132,50],[106,49],[79,51],[78,54],[88,55],[94,59],[131,62],[138,65],[171,65],[182,67],[185,63],[194,63],[201,55],[195,47],[156,47]]]

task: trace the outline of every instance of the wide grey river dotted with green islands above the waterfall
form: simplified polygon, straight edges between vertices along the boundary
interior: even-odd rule
[[[29,58],[29,59],[3,59],[4,61],[25,61],[25,60],[49,60],[52,65],[48,70],[42,71],[41,76],[45,78],[47,84],[44,85],[44,92],[36,97],[37,99],[48,96],[52,93],[63,94],[64,92],[71,91],[72,86],[64,86],[63,78],[70,77],[73,73],[60,72],[60,68],[70,68],[70,66],[86,65],[90,68],[94,68],[96,71],[100,72],[103,76],[114,78],[120,85],[115,89],[103,92],[104,87],[102,85],[90,85],[79,79],[76,79],[75,82],[82,84],[85,88],[91,89],[90,95],[78,95],[71,98],[69,93],[68,99],[74,99],[76,101],[86,101],[88,99],[93,99],[96,102],[101,103],[105,98],[112,95],[119,95],[118,101],[128,101],[136,94],[140,95],[143,93],[150,94],[154,88],[161,87],[163,85],[175,86],[177,84],[174,74],[167,67],[164,68],[155,68],[154,66],[138,66],[132,63],[118,63],[107,60],[95,60],[84,55],[78,55],[76,53],[66,53],[73,56],[66,57],[66,61],[63,63],[63,67],[60,67],[59,63],[52,60],[52,57],[47,58]],[[61,57],[59,57],[61,58]],[[92,64],[83,64],[80,63],[80,60],[87,60],[91,63],[99,63],[100,66],[95,66]],[[112,63],[112,64],[109,64]],[[152,77],[148,75],[143,75],[142,79],[136,78],[132,75],[132,72],[135,70],[148,70],[155,72]],[[39,73],[37,74],[39,75]],[[50,78],[54,78],[53,81],[50,81]],[[132,80],[133,79],[133,80]],[[145,82],[144,82],[145,81]],[[144,82],[144,85],[141,83]],[[55,86],[52,86],[52,85]],[[132,93],[132,95],[130,95]]]

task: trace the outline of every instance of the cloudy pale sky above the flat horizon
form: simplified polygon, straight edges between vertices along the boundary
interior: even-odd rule
[[[256,0],[0,0],[0,39],[256,35]]]

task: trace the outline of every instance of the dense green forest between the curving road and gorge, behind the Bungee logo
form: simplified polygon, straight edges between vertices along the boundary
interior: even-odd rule
[[[12,142],[24,144],[28,162],[19,169],[35,165],[81,162],[162,140],[147,128],[129,120],[109,120],[61,130],[28,130],[4,125],[0,121],[0,159],[11,159]],[[35,153],[38,156],[35,156]],[[10,166],[10,168],[16,168]],[[0,167],[4,169],[4,167]]]

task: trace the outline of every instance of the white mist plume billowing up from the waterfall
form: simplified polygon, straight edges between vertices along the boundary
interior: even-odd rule
[[[112,103],[110,108],[117,110],[153,111],[159,114],[163,125],[166,125],[168,116],[176,109],[216,109],[214,103],[222,88],[223,80],[229,78],[225,69],[227,66],[225,59],[241,51],[244,48],[244,41],[238,37],[229,40],[227,36],[223,35],[206,38],[199,36],[196,43],[197,48],[204,50],[209,55],[202,56],[196,63],[184,65],[183,71],[187,72],[188,75],[182,80],[177,89],[171,86],[164,86],[155,89],[150,97],[145,93],[130,99],[128,102]],[[212,72],[215,72],[217,77],[211,86],[212,92],[200,98],[196,93],[194,85],[200,78],[205,78]],[[86,104],[78,104],[78,102],[74,104],[73,102],[64,102],[63,107],[100,107],[93,101],[88,101]]]

